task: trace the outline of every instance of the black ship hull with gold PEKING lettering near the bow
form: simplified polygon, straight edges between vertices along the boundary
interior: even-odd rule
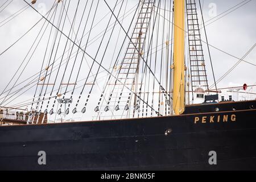
[[[3,126],[0,170],[255,170],[255,106],[228,102],[189,106],[174,117]],[[39,165],[39,151],[46,165]],[[217,164],[209,164],[210,151]]]

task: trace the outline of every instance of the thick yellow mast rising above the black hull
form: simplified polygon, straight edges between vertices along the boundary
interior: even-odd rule
[[[174,93],[172,108],[175,115],[180,115],[185,110],[185,1],[174,0]]]

